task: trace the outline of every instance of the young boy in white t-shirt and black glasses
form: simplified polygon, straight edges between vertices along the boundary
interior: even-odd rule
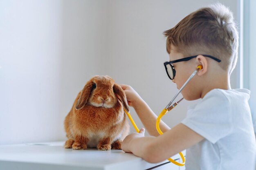
[[[131,86],[121,85],[129,106],[151,135],[144,137],[141,128],[124,139],[122,150],[157,163],[186,149],[188,170],[255,170],[250,91],[230,87],[238,57],[238,31],[231,11],[219,3],[199,9],[164,35],[171,61],[165,64],[166,72],[178,89],[202,66],[181,92],[186,100],[201,100],[189,106],[185,119],[171,130],[161,121],[164,134],[159,136],[157,115]],[[189,56],[195,57],[179,60]]]

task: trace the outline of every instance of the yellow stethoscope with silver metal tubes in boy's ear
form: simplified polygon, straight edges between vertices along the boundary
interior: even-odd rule
[[[157,121],[156,121],[156,128],[157,128],[157,132],[159,133],[159,135],[162,135],[163,132],[160,130],[160,127],[159,127],[159,123],[160,123],[160,120],[161,118],[166,114],[168,113],[169,111],[171,111],[173,108],[175,108],[177,106],[177,104],[179,104],[183,99],[184,97],[182,97],[179,101],[175,102],[174,104],[173,101],[176,99],[177,95],[180,94],[180,92],[182,91],[182,89],[186,86],[186,84],[189,83],[189,81],[194,77],[194,75],[202,69],[202,65],[199,65],[197,67],[197,70],[195,70],[191,76],[186,80],[186,82],[183,84],[183,86],[180,88],[180,90],[176,93],[176,95],[173,97],[173,99],[171,99],[171,102],[169,102],[169,104],[162,110],[162,112],[159,114],[159,116],[157,117]],[[126,115],[128,116],[128,118],[130,119],[131,123],[132,123],[132,126],[135,128],[135,130],[137,132],[139,132],[139,129],[138,127],[136,126],[135,122],[133,121],[132,117],[130,116],[130,112],[128,113],[125,109],[124,109]],[[182,163],[179,163],[177,161],[174,161],[173,159],[169,158],[168,161],[174,163],[175,165],[177,166],[184,166],[185,165],[185,157],[184,155],[182,154],[182,152],[179,153],[180,154],[180,157],[182,158]]]

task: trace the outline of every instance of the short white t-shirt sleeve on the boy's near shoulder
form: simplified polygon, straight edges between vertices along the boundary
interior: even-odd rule
[[[188,109],[187,116],[181,121],[199,135],[215,144],[232,131],[231,104],[220,91],[204,96],[193,109]]]

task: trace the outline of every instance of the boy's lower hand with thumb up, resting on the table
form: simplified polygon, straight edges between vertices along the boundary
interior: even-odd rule
[[[122,150],[124,150],[124,152],[131,152],[130,144],[131,144],[132,139],[139,138],[139,137],[144,137],[144,136],[145,136],[145,129],[144,128],[141,128],[139,130],[139,133],[135,132],[135,133],[132,133],[132,134],[126,136],[126,138],[124,139],[124,141],[121,144]]]

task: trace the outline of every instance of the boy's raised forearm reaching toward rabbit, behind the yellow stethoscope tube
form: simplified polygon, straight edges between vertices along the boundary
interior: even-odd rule
[[[155,113],[150,109],[148,104],[146,104],[143,99],[138,99],[133,107],[142,124],[144,125],[144,128],[146,128],[146,130],[148,131],[149,135],[159,136],[159,133],[155,128],[157,115],[155,115]],[[159,127],[163,133],[171,129],[162,120],[160,121]]]

